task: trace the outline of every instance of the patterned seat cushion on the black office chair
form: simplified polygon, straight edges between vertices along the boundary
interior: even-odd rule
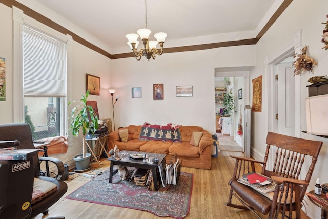
[[[31,204],[37,203],[40,200],[48,197],[57,190],[57,185],[49,181],[34,178],[33,193]]]

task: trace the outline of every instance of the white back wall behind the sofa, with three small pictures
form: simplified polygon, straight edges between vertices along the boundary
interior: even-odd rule
[[[116,128],[129,124],[197,125],[215,133],[214,68],[254,65],[254,45],[168,53],[149,62],[142,58],[113,61]],[[153,100],[153,84],[164,84],[164,100]],[[193,86],[192,97],[176,97],[176,86]],[[142,98],[131,88],[141,87]],[[116,94],[115,93],[115,94]]]

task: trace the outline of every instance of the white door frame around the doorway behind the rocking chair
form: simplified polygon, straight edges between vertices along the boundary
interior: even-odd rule
[[[264,72],[268,75],[268,131],[276,132],[276,86],[275,75],[276,65],[285,58],[294,56],[294,54],[301,51],[301,36],[302,30],[295,34],[293,41],[278,50],[265,60]],[[301,77],[294,77],[295,79],[295,137],[301,135]]]

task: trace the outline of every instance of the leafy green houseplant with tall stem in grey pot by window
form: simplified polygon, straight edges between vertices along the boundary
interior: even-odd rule
[[[94,135],[95,131],[98,129],[98,117],[96,116],[92,106],[87,105],[87,98],[89,96],[89,90],[86,92],[86,95],[82,95],[80,101],[70,101],[68,105],[73,102],[79,103],[79,105],[73,107],[71,116],[69,119],[71,120],[71,127],[68,130],[72,130],[72,134],[75,137],[78,137],[80,130],[83,134],[83,157],[86,156],[86,134],[89,131]]]

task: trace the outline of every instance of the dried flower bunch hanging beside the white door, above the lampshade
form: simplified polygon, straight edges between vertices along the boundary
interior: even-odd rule
[[[313,58],[310,58],[308,55],[306,55],[306,51],[308,50],[308,47],[309,46],[304,46],[302,48],[302,54],[300,54],[300,55],[295,54],[295,56],[294,56],[294,58],[298,57],[293,62],[293,66],[295,66],[294,76],[300,75],[300,74],[304,73],[305,71],[312,72],[314,66],[318,64]]]

